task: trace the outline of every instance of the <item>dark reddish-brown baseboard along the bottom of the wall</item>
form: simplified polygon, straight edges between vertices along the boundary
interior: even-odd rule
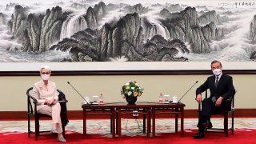
[[[234,117],[236,118],[254,118],[256,115],[255,109],[236,109]],[[69,110],[68,117],[70,119],[82,119],[82,110]],[[173,115],[162,114],[158,118],[171,118]],[[185,118],[198,118],[198,110],[185,110]],[[0,111],[0,120],[23,120],[26,119],[26,111]],[[109,118],[106,115],[90,115],[87,118]],[[131,118],[131,116],[128,118]]]

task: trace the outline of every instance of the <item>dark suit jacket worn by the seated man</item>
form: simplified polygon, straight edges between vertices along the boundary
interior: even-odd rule
[[[226,100],[227,98],[234,96],[235,90],[233,86],[233,79],[231,76],[222,74],[222,77],[219,79],[217,88],[215,88],[214,83],[215,75],[208,77],[206,82],[204,82],[196,90],[196,96],[207,89],[210,89],[210,98],[215,96],[216,99],[222,97],[223,100]]]

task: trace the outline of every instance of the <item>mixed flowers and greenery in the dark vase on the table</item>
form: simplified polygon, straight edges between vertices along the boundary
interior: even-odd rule
[[[126,98],[126,96],[139,97],[142,93],[143,89],[138,86],[137,82],[127,82],[121,89],[122,98]]]

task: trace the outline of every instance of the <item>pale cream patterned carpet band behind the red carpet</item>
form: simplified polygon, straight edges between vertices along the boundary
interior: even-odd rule
[[[214,127],[222,127],[222,118],[211,119]],[[185,118],[184,129],[186,132],[197,129],[198,118]],[[50,130],[50,121],[42,120],[40,127]],[[256,130],[255,118],[235,118],[235,130]],[[32,123],[34,128],[34,123]],[[27,121],[0,121],[0,133],[19,134],[27,132]],[[66,134],[78,132],[82,134],[82,120],[70,120],[66,126]],[[158,118],[156,120],[156,135],[174,133],[174,118]],[[101,134],[102,137],[111,137],[110,120],[90,119],[87,120],[87,134]],[[122,119],[122,134],[127,136],[144,135],[142,133],[142,119]]]

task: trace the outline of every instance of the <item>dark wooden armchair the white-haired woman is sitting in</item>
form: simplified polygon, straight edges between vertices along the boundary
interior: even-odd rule
[[[58,102],[60,102],[62,106],[61,110],[61,118],[62,118],[62,134],[65,137],[65,126],[68,123],[67,114],[66,114],[66,102],[68,102],[65,98],[65,94],[62,93],[61,90],[58,90]],[[50,115],[38,113],[37,110],[37,100],[32,96],[33,95],[33,87],[30,87],[26,90],[27,95],[27,122],[28,122],[28,137],[30,138],[30,134],[35,134],[35,140],[38,140],[38,136],[42,135],[51,135],[50,130],[41,130],[39,121],[41,118],[51,118]],[[30,120],[34,118],[34,131],[30,130]]]

